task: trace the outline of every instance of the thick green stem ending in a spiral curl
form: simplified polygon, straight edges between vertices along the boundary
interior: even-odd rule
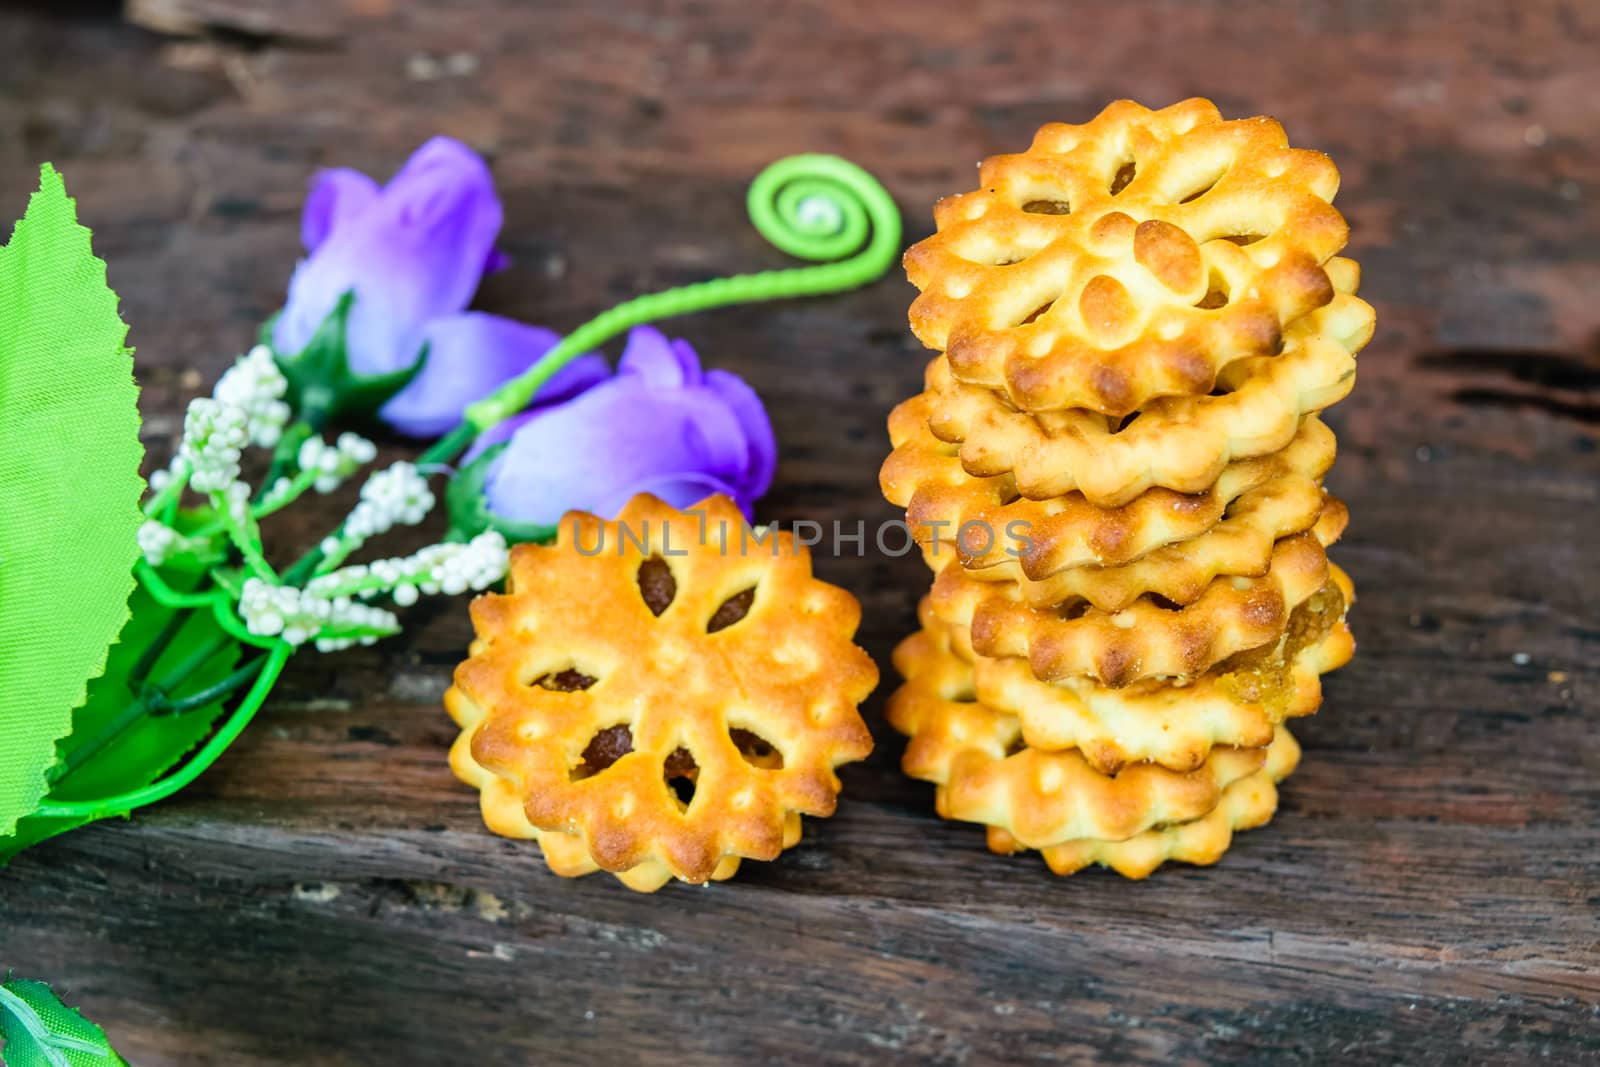
[[[478,434],[526,408],[563,366],[634,326],[712,307],[843,293],[878,280],[899,256],[901,218],[893,197],[872,174],[837,155],[778,160],[750,182],[746,210],[762,237],[816,266],[696,282],[595,315],[522,376],[469,406],[466,421],[422,453],[418,466],[451,462]]]

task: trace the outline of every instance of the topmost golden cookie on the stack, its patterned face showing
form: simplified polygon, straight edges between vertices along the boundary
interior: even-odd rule
[[[1333,298],[1339,173],[1272,118],[1117,101],[979,168],[906,253],[912,331],[1024,411],[1205,395]]]

